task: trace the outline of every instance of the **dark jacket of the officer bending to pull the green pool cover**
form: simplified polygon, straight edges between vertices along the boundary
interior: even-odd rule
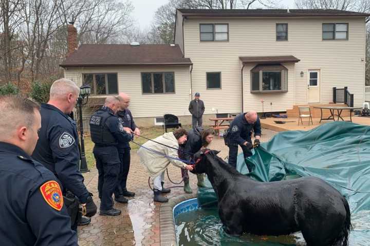
[[[243,145],[245,141],[251,141],[252,130],[254,136],[261,136],[260,118],[254,124],[249,124],[245,118],[245,114],[237,115],[230,123],[229,127],[229,142],[230,144]]]

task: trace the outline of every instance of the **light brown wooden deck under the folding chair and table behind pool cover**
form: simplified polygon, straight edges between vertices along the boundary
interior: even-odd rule
[[[349,117],[343,117],[345,120],[349,120]],[[315,127],[318,127],[322,124],[325,124],[327,122],[332,122],[332,120],[324,120],[321,121],[321,124],[319,124],[320,116],[319,118],[313,118],[313,125],[308,125],[308,119],[304,118],[303,120],[303,126],[300,124],[298,126],[298,117],[288,117],[288,118],[266,118],[266,119],[260,119],[261,120],[261,126],[263,128],[267,128],[273,131],[282,132],[282,131],[296,131],[296,130],[302,130],[307,131],[311,130]],[[285,124],[276,124],[274,120],[281,120],[281,121],[294,121],[294,122],[287,122]],[[305,122],[307,121],[307,122]],[[356,124],[360,125],[367,125],[370,126],[370,117],[360,117],[360,116],[352,116],[352,121]]]

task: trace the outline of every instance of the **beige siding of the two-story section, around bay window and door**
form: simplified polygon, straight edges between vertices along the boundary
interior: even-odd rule
[[[204,23],[229,24],[229,42],[200,42],[199,24]],[[276,41],[276,23],[288,24],[288,41]],[[348,23],[349,39],[322,40],[323,23]],[[268,111],[307,103],[307,71],[313,69],[321,74],[321,103],[332,101],[332,87],[347,86],[355,94],[355,106],[361,106],[364,98],[364,18],[189,18],[184,22],[184,50],[194,64],[192,92],[201,93],[206,113],[214,113],[212,107],[218,113],[242,110],[239,56],[294,55],[301,60],[295,66],[286,65],[289,86],[288,93],[282,94],[249,95],[250,69],[245,67],[245,111],[262,108],[260,98],[270,100],[265,103]],[[212,71],[222,73],[221,90],[206,90],[206,72]]]

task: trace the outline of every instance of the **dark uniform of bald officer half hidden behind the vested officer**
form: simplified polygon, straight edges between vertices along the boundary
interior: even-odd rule
[[[131,114],[131,111],[128,109],[121,110],[117,112],[118,120],[122,127],[130,128],[131,130],[135,131],[137,128],[134,122],[134,118]],[[126,183],[127,183],[127,176],[128,171],[130,170],[130,162],[131,162],[131,154],[130,154],[130,144],[128,141],[124,144],[118,145],[118,153],[121,161],[120,165],[120,174],[118,177],[118,187],[115,194],[121,194],[126,196],[134,196],[135,193],[127,192]]]

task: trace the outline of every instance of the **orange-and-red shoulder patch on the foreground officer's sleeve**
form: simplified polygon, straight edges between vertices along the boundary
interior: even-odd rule
[[[57,181],[47,181],[40,187],[41,194],[49,206],[61,211],[63,208],[63,195]]]

